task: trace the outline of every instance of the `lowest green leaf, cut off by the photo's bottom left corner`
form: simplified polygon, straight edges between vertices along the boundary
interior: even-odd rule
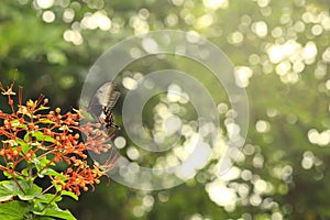
[[[8,201],[0,205],[0,219],[21,220],[29,212],[29,206],[23,201]]]

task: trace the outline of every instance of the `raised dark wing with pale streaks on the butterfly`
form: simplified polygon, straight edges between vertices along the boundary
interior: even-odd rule
[[[95,118],[99,119],[105,114],[105,110],[109,111],[113,108],[120,97],[120,92],[114,90],[112,81],[103,84],[91,97],[88,106],[88,112]]]

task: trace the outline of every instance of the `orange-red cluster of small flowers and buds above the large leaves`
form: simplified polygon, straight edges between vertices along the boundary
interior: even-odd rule
[[[19,89],[19,103],[15,110],[13,91],[14,84],[7,89],[0,84],[2,95],[8,97],[11,113],[0,110],[0,170],[15,179],[16,175],[28,177],[19,167],[33,165],[30,178],[35,178],[47,169],[57,172],[57,165],[65,164],[66,168],[59,175],[48,174],[53,186],[62,186],[62,189],[80,195],[80,189],[94,188],[99,184],[99,178],[107,175],[113,167],[113,157],[106,164],[87,163],[87,150],[95,153],[107,152],[111,145],[109,136],[101,131],[100,124],[88,122],[79,125],[81,112],[61,113],[61,109],[48,111],[48,99],[41,96],[36,101],[29,100],[22,103],[22,88]],[[79,133],[86,139],[80,140]],[[52,185],[51,187],[52,188]],[[48,188],[48,189],[50,189]],[[46,190],[48,190],[46,189]]]

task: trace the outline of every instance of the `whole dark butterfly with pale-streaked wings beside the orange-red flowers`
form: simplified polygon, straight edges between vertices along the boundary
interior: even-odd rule
[[[91,97],[87,111],[102,124],[107,130],[111,128],[120,129],[114,123],[112,108],[120,97],[120,92],[114,90],[116,85],[112,81],[103,84]]]

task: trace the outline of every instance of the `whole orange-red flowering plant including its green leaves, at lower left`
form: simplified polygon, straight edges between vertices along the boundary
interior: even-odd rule
[[[79,141],[78,111],[50,111],[43,96],[24,106],[22,90],[16,101],[13,87],[14,82],[7,89],[0,84],[11,109],[10,113],[0,109],[0,170],[4,177],[0,180],[0,218],[76,219],[57,204],[63,197],[78,200],[80,188],[87,191],[88,186],[98,184],[107,167],[87,163],[87,145]],[[88,134],[84,127],[79,131]]]

